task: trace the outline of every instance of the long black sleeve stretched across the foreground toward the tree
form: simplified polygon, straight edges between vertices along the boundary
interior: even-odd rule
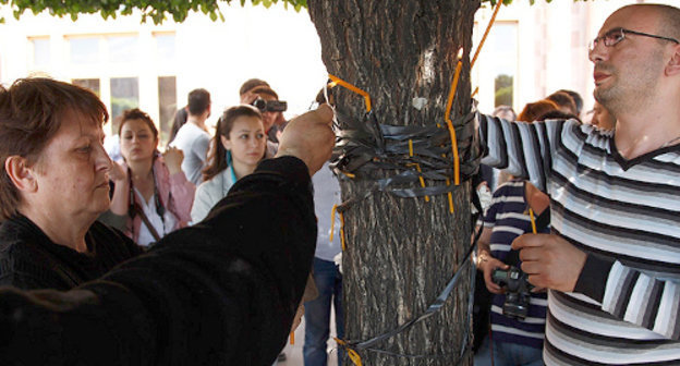
[[[270,365],[315,244],[306,166],[263,161],[206,220],[98,281],[0,291],[0,364]]]

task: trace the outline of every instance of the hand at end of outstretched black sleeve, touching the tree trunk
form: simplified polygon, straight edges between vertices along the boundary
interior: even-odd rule
[[[281,134],[277,157],[293,156],[307,164],[314,175],[332,152],[336,135],[331,130],[333,112],[326,105],[292,119]]]

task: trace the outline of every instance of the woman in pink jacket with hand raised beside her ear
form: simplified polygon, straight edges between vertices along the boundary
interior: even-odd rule
[[[124,161],[111,171],[116,187],[102,221],[149,245],[187,224],[196,187],[182,172],[181,150],[158,152],[158,130],[148,114],[124,111],[119,134]]]

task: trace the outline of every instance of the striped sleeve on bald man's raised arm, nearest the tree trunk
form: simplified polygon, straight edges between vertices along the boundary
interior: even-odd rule
[[[479,139],[486,151],[482,163],[529,180],[545,192],[563,123],[558,120],[510,122],[479,114]]]

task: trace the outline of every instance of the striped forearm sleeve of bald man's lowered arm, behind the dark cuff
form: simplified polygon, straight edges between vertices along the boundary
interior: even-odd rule
[[[676,281],[664,281],[616,261],[602,308],[667,339],[680,339],[680,285]]]

